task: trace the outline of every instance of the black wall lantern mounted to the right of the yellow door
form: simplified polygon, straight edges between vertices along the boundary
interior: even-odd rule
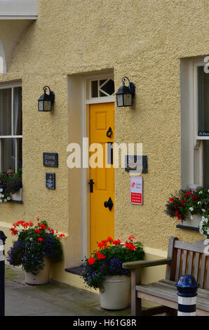
[[[125,85],[126,79],[128,80],[128,86]],[[128,77],[123,77],[121,80],[123,86],[121,86],[116,93],[117,106],[132,107],[135,95],[135,85],[130,82]]]

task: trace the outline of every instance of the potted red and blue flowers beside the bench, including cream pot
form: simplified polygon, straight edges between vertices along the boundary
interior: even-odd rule
[[[84,260],[83,279],[94,289],[100,289],[100,304],[107,310],[126,308],[130,296],[130,270],[122,268],[128,261],[142,260],[144,250],[131,235],[124,243],[112,237],[97,244],[98,249]]]

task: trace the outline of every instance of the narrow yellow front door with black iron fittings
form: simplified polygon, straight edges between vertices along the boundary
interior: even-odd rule
[[[109,236],[114,238],[114,168],[110,152],[111,144],[114,143],[114,103],[90,105],[90,145],[93,143],[102,145],[103,166],[93,168],[90,162],[90,180],[93,180],[90,184],[91,252],[97,249],[97,242]],[[95,152],[97,151],[95,149]],[[90,152],[90,157],[95,152]]]

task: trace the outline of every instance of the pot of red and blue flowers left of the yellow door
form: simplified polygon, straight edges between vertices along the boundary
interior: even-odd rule
[[[62,244],[60,239],[64,234],[58,235],[48,227],[46,221],[37,224],[31,221],[18,221],[11,227],[11,235],[18,240],[7,253],[7,260],[11,265],[21,265],[25,271],[27,284],[46,284],[49,281],[50,263],[62,260]]]

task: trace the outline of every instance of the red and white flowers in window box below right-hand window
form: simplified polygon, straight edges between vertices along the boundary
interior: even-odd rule
[[[171,196],[166,204],[166,214],[177,220],[189,220],[189,215],[208,216],[209,190],[198,187],[196,190],[180,190],[177,196]]]

